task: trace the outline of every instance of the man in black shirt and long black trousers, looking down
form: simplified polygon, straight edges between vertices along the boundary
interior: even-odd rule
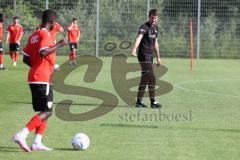
[[[146,87],[148,86],[149,97],[152,108],[160,108],[161,105],[155,100],[155,83],[156,78],[153,70],[153,53],[155,52],[157,57],[157,66],[160,65],[159,45],[157,41],[158,26],[156,25],[158,20],[158,12],[156,9],[149,11],[148,21],[144,23],[139,31],[132,49],[131,55],[138,56],[138,61],[142,69],[142,77],[138,88],[136,107],[147,107],[142,98]],[[136,55],[137,48],[138,55]]]

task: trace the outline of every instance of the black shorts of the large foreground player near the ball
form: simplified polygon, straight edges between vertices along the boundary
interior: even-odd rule
[[[29,84],[32,92],[32,105],[35,112],[51,112],[53,91],[49,84]]]

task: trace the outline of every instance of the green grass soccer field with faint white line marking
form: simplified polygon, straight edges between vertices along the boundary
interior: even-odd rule
[[[63,121],[54,114],[43,139],[51,152],[25,153],[11,141],[34,114],[26,83],[28,68],[17,67],[4,57],[7,70],[0,71],[0,159],[1,160],[238,160],[240,156],[240,74],[239,60],[194,62],[187,59],[162,59],[168,72],[161,77],[174,89],[157,97],[164,107],[136,109],[119,98],[118,107],[89,121]],[[59,64],[67,57],[58,57]],[[83,81],[86,67],[79,67],[66,79],[67,84],[96,88],[119,97],[110,78],[111,57],[101,58],[103,68],[95,83]],[[130,58],[131,62],[137,60]],[[120,66],[121,67],[121,66]],[[139,72],[132,73],[132,76]],[[122,84],[124,85],[124,83]],[[101,101],[55,92],[54,102],[74,100],[73,113],[91,110]],[[144,99],[148,104],[148,99]],[[144,119],[161,113],[169,119]],[[140,114],[142,117],[136,118]],[[131,115],[132,118],[130,117]],[[171,116],[181,116],[172,119]],[[185,118],[184,118],[185,117]],[[163,118],[163,117],[162,117]],[[86,151],[74,151],[71,138],[85,132],[91,139]],[[33,133],[28,138],[32,142]]]

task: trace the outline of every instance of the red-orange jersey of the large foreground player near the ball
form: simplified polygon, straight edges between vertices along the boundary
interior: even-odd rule
[[[30,58],[31,68],[28,73],[28,83],[49,84],[54,72],[56,53],[47,56],[40,55],[42,49],[52,47],[54,41],[45,28],[39,29],[28,38],[23,54]]]

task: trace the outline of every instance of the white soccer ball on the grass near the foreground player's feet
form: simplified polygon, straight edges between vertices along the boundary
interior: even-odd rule
[[[77,133],[72,138],[72,146],[75,150],[86,150],[90,145],[90,140],[85,133]]]

